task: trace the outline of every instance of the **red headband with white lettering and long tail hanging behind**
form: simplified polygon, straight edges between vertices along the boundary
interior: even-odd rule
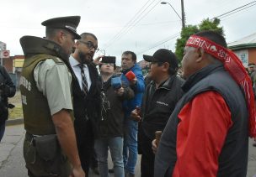
[[[237,55],[235,55],[231,50],[197,35],[190,36],[186,46],[195,48],[200,47],[204,49],[206,53],[213,55],[218,60],[221,60],[225,69],[230,75],[232,75],[232,78],[244,91],[248,107],[249,136],[251,138],[256,138],[256,117],[252,81],[247,71],[244,69],[242,62],[237,58]]]

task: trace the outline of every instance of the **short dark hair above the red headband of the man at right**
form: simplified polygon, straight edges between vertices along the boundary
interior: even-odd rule
[[[215,31],[205,30],[205,31],[200,31],[195,35],[209,39],[209,40],[215,42],[216,44],[219,44],[222,47],[227,48],[226,39],[221,34],[215,32]]]

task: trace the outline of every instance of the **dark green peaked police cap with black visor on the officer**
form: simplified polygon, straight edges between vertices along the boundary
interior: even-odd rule
[[[81,36],[77,34],[77,26],[80,23],[80,16],[67,16],[59,18],[47,19],[41,24],[46,28],[51,29],[66,29],[75,35],[76,39],[81,39]]]

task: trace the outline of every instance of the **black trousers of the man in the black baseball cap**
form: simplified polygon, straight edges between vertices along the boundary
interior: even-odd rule
[[[140,136],[141,177],[153,177],[155,154],[152,152],[152,140],[144,133],[140,133]]]

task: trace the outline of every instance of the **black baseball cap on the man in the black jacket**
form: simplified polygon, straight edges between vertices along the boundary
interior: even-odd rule
[[[143,55],[143,59],[148,62],[168,62],[174,70],[179,67],[177,56],[168,49],[158,49],[152,56]]]

